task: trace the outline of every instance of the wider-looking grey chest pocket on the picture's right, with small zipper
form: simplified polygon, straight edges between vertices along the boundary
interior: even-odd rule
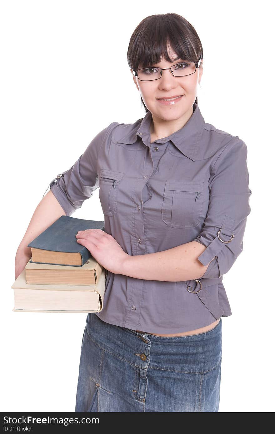
[[[162,220],[169,227],[192,228],[201,223],[203,182],[166,181]]]

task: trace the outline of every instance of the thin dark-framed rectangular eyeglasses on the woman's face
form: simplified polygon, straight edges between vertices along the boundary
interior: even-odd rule
[[[141,68],[137,71],[133,71],[135,73],[135,76],[138,77],[141,81],[152,81],[152,80],[158,80],[162,76],[162,71],[165,71],[165,69],[170,69],[172,72],[172,75],[174,77],[184,77],[184,76],[190,76],[191,74],[194,74],[197,68],[199,68],[201,59],[198,60],[198,62],[182,62],[177,63],[176,65],[171,66],[171,68],[158,68],[156,66],[152,66],[149,68]]]

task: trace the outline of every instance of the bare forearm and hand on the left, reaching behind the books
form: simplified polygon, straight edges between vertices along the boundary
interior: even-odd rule
[[[63,208],[50,190],[37,205],[26,233],[19,244],[15,256],[15,279],[27,265],[32,254],[27,245],[40,233],[53,224],[59,217],[66,215]]]

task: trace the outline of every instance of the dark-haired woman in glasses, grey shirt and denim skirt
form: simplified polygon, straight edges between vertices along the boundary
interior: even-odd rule
[[[127,57],[145,117],[108,125],[51,181],[51,216],[42,227],[35,211],[16,273],[35,231],[100,187],[105,232],[76,234],[107,270],[103,310],[86,318],[76,412],[217,412],[221,317],[232,315],[222,277],[250,213],[247,148],[204,122],[202,44],[182,16],[146,17]]]

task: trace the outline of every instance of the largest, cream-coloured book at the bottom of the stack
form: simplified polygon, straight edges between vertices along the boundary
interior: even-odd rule
[[[107,272],[96,285],[31,285],[26,269],[14,281],[13,312],[100,312],[103,309]]]

